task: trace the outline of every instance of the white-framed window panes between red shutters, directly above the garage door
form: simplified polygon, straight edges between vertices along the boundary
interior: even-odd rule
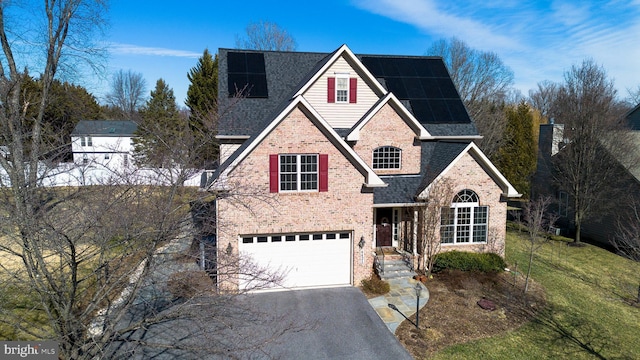
[[[318,190],[318,155],[280,155],[280,191]]]

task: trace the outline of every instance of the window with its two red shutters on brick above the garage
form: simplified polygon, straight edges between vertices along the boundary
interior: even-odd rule
[[[310,192],[328,189],[328,155],[278,154],[269,160],[271,192]]]

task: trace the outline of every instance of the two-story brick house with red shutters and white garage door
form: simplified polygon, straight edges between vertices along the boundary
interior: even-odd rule
[[[283,271],[284,288],[359,285],[374,251],[420,257],[419,214],[448,179],[442,250],[504,250],[520,194],[479,139],[439,57],[220,49],[218,256]],[[415,260],[417,261],[417,260]],[[251,288],[253,278],[220,277]]]

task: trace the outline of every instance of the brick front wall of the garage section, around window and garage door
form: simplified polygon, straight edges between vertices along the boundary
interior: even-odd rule
[[[325,94],[326,95],[326,94]],[[327,154],[328,191],[270,193],[269,155]],[[239,237],[251,234],[349,231],[352,233],[352,284],[371,274],[373,258],[357,246],[363,237],[371,248],[373,194],[362,191],[364,176],[318,130],[299,108],[294,109],[233,170],[230,184],[248,196],[218,200],[218,255],[237,255]],[[331,266],[327,259],[327,266]],[[221,276],[221,282],[237,279]],[[223,288],[225,285],[222,285]]]

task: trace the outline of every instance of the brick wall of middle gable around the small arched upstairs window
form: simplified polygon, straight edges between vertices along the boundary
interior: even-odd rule
[[[420,173],[420,143],[415,133],[389,104],[384,105],[360,130],[353,146],[358,155],[373,166],[373,150],[380,146],[402,149],[400,169],[374,169],[378,175]]]

